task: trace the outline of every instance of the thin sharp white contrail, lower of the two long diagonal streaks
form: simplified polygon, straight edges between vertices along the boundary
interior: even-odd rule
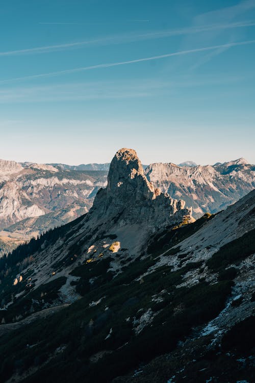
[[[129,60],[129,61],[119,61],[119,62],[112,62],[112,63],[105,63],[105,64],[96,64],[96,65],[90,65],[90,66],[83,66],[80,68],[64,69],[64,70],[59,70],[59,71],[50,72],[50,73],[42,73],[39,75],[18,77],[18,78],[9,79],[9,80],[1,80],[0,83],[3,84],[3,83],[13,82],[13,81],[31,80],[31,79],[37,79],[37,78],[42,78],[42,77],[54,77],[54,76],[66,75],[66,74],[70,74],[70,73],[76,73],[76,72],[80,72],[80,71],[84,71],[84,70],[91,70],[91,69],[98,69],[98,68],[109,68],[112,66],[134,64],[134,63],[143,62],[143,61],[159,60],[159,59],[164,59],[164,58],[172,57],[172,56],[188,55],[191,53],[212,51],[215,49],[231,48],[233,46],[248,45],[248,44],[254,44],[254,43],[255,43],[255,40],[230,42],[227,44],[206,46],[206,47],[197,48],[197,49],[190,49],[190,50],[186,50],[186,51],[177,51],[177,52],[173,52],[173,53],[167,53],[165,55],[150,56],[150,57],[144,57],[144,58]]]

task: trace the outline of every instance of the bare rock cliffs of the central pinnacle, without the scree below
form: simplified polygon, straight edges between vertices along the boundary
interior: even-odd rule
[[[107,187],[99,190],[91,209],[95,213],[104,220],[119,216],[119,226],[142,224],[150,230],[180,223],[185,216],[192,220],[192,209],[155,188],[145,177],[136,152],[126,148],[111,162]]]

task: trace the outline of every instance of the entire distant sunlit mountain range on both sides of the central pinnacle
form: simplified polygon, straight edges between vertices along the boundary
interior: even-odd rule
[[[255,187],[255,166],[243,158],[195,165],[142,165],[151,184],[193,209],[194,218],[215,213]],[[92,206],[100,187],[106,187],[109,163],[37,164],[0,160],[0,237],[8,247],[80,217]],[[2,231],[1,231],[2,230]],[[5,241],[6,243],[6,241]],[[2,250],[1,250],[2,249]]]

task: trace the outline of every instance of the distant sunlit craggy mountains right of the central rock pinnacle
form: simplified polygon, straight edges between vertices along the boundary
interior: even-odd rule
[[[255,166],[243,158],[213,166],[154,163],[145,175],[164,193],[192,206],[195,218],[226,208],[255,187]]]

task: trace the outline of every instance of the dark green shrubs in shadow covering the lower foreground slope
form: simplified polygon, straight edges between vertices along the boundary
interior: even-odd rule
[[[109,261],[110,258],[101,258],[72,272],[84,282],[96,278],[82,299],[47,321],[38,320],[2,337],[0,374],[4,380],[13,371],[22,373],[31,366],[40,366],[52,355],[43,370],[24,382],[109,382],[140,363],[173,350],[193,326],[215,317],[231,292],[229,280],[176,289],[183,275],[200,269],[201,262],[174,272],[171,267],[162,266],[140,279],[156,262],[153,257],[140,259],[112,279],[107,276]],[[103,279],[97,285],[100,276]],[[161,299],[157,301],[157,297]],[[135,334],[134,320],[138,325],[139,318],[149,309],[151,322]],[[59,347],[63,350],[58,353]],[[108,353],[89,363],[89,358],[102,350]]]

